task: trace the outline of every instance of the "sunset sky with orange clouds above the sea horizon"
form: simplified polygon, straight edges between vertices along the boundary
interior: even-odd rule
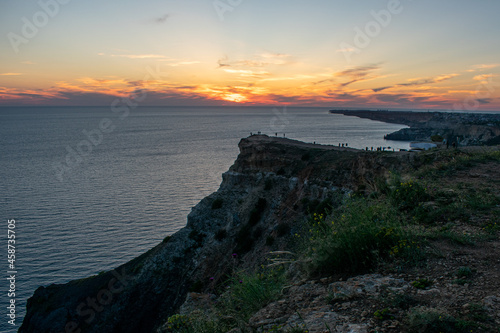
[[[500,111],[498,0],[2,0],[0,106]]]

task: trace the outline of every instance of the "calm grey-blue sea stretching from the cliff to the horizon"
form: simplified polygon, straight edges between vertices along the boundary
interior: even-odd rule
[[[402,127],[323,108],[0,108],[0,331],[12,328],[7,219],[16,220],[17,330],[38,286],[111,269],[182,228],[250,132],[407,148],[383,140]]]

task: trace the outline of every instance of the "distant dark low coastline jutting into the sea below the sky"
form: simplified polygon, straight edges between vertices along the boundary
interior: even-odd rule
[[[409,126],[387,134],[388,140],[431,141],[433,135],[439,135],[466,146],[500,143],[499,114],[368,110],[331,110],[330,113]]]

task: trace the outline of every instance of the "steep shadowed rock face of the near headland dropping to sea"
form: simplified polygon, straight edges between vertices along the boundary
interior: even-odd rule
[[[373,190],[388,170],[418,164],[409,153],[262,135],[242,139],[239,147],[219,190],[193,208],[185,228],[112,271],[38,288],[19,332],[153,332],[190,290],[210,290],[233,270],[286,249],[302,226],[306,202]]]

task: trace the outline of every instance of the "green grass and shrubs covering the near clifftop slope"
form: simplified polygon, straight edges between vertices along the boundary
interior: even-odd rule
[[[425,290],[435,281],[432,274],[443,274],[432,265],[446,257],[441,252],[444,247],[464,253],[498,240],[500,152],[449,150],[421,153],[419,158],[428,163],[405,174],[391,173],[377,181],[372,191],[367,184],[365,193],[345,197],[342,205],[323,202],[317,210],[320,203],[302,203],[310,215],[295,234],[293,251],[309,278],[407,273],[420,276],[411,285]],[[290,260],[278,263],[283,265],[229,277],[225,286],[212,291],[221,294],[215,306],[172,316],[163,332],[248,331],[249,318],[278,299],[292,282],[285,274]],[[448,274],[456,278],[453,283],[474,283],[475,269],[470,267],[454,267]],[[394,331],[497,332],[495,322],[478,303],[467,310],[445,309],[432,301],[390,293],[374,302],[377,321],[398,320]],[[276,331],[306,332],[307,328]]]

